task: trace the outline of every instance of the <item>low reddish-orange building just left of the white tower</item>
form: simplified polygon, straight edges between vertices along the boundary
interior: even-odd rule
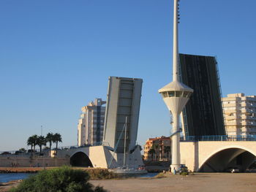
[[[154,153],[149,151],[154,149]],[[153,157],[153,159],[152,159]],[[144,160],[168,161],[170,160],[170,137],[149,138],[144,145]]]

